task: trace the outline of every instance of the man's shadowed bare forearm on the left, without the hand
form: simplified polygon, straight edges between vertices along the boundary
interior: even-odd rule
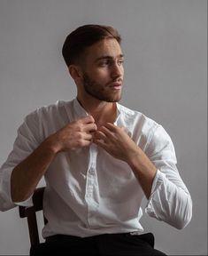
[[[56,152],[51,147],[50,140],[44,140],[31,155],[13,169],[11,177],[13,202],[25,201],[33,194],[54,156]]]

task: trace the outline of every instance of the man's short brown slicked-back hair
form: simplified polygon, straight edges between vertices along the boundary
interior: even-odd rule
[[[119,32],[110,26],[89,24],[76,28],[65,38],[62,48],[67,67],[76,64],[87,47],[105,38],[114,38],[119,44],[121,42]]]

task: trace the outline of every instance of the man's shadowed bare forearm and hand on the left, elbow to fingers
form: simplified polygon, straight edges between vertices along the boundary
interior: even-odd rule
[[[65,125],[64,128],[43,140],[34,152],[13,169],[12,201],[21,202],[29,198],[56,154],[89,146],[94,132],[96,132],[95,120],[92,116],[86,116]]]

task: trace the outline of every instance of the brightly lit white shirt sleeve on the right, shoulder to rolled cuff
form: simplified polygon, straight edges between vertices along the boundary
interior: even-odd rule
[[[153,133],[146,154],[158,171],[145,212],[174,228],[185,228],[192,217],[192,200],[176,167],[173,142],[161,125]]]

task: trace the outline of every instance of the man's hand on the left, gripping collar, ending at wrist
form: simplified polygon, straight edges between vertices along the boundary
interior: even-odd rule
[[[86,147],[92,142],[94,132],[95,120],[92,116],[86,116],[52,134],[49,138],[50,145],[56,153]]]

